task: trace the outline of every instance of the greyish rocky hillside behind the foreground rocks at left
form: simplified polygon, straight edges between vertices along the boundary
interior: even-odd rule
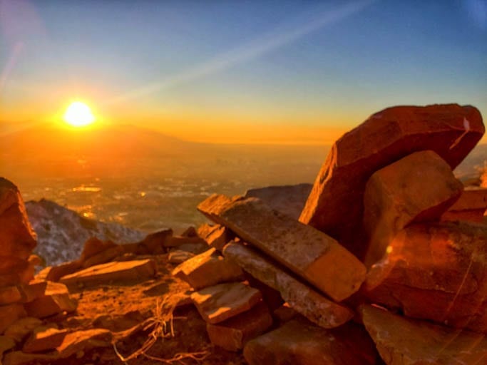
[[[145,237],[145,233],[123,225],[88,220],[49,200],[31,200],[25,204],[29,221],[37,234],[34,253],[43,257],[47,265],[78,259],[90,237],[116,243],[137,242]]]

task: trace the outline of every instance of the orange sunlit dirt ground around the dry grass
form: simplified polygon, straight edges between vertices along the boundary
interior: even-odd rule
[[[138,257],[142,258],[142,257]],[[51,321],[59,327],[70,329],[106,328],[113,331],[115,346],[93,349],[87,353],[78,353],[70,359],[53,364],[246,364],[241,353],[225,351],[212,346],[206,333],[206,324],[201,319],[193,304],[183,304],[173,311],[173,335],[170,327],[170,313],[175,304],[183,298],[188,302],[190,287],[170,272],[176,266],[168,263],[168,255],[153,256],[158,263],[158,275],[155,279],[143,282],[111,282],[93,287],[70,288],[72,296],[78,300],[78,309],[73,314],[61,316]],[[140,354],[126,362],[117,356],[127,358],[138,351],[148,339],[154,327],[147,330],[137,327],[157,314],[168,319],[163,328],[164,338],[155,339],[155,343],[145,353],[161,361],[150,359]],[[157,317],[157,316],[156,316]],[[135,329],[134,329],[135,328]],[[133,334],[128,334],[132,329]],[[125,333],[123,331],[126,331]],[[195,354],[195,359],[178,359],[178,354]],[[170,360],[173,359],[173,360]]]

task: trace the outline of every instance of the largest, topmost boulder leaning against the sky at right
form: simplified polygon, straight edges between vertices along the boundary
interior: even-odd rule
[[[406,155],[433,150],[451,169],[484,133],[481,114],[456,104],[396,106],[371,115],[330,150],[299,220],[326,232],[351,252],[360,252],[357,227],[370,176]]]

